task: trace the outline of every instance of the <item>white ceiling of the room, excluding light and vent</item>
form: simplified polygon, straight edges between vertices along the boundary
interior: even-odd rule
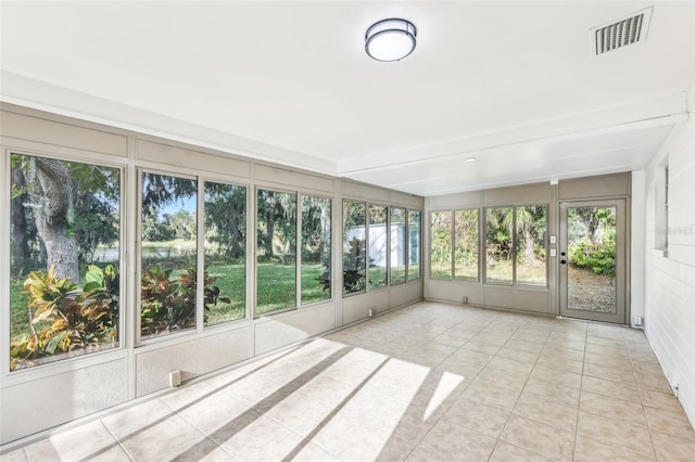
[[[650,5],[644,43],[591,54]],[[3,101],[426,196],[639,169],[695,81],[693,2],[0,7]],[[372,61],[393,16],[417,49]]]

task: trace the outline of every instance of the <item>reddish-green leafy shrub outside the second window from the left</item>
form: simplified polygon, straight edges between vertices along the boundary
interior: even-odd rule
[[[150,268],[140,285],[140,330],[142,335],[160,335],[179,329],[195,326],[197,272],[189,268],[177,279],[170,269]],[[230,303],[222,296],[219,287],[213,285],[213,278],[205,270],[203,306],[205,313],[218,301]],[[206,316],[206,315],[205,315]]]

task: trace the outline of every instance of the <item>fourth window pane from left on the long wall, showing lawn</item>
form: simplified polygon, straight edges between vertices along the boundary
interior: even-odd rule
[[[296,194],[258,190],[256,312],[296,306]]]

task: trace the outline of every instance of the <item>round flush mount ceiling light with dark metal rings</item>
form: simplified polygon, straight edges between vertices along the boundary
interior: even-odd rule
[[[365,35],[365,51],[377,61],[400,61],[415,50],[417,29],[409,21],[383,20]]]

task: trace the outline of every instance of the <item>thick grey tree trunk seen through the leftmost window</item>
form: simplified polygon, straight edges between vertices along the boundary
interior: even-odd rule
[[[56,278],[79,283],[79,249],[67,227],[72,215],[70,172],[60,161],[36,157],[27,172],[36,229]]]

